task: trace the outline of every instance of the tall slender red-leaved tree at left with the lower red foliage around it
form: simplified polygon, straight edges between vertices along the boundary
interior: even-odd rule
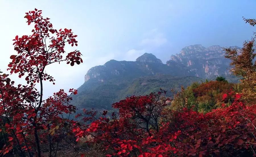
[[[11,55],[12,61],[7,69],[11,74],[17,73],[19,78],[25,77],[28,85],[15,87],[8,75],[0,76],[0,116],[3,119],[1,124],[9,134],[9,141],[2,150],[3,154],[18,145],[22,156],[25,156],[24,152],[33,156],[35,150],[36,156],[40,157],[40,143],[48,141],[51,156],[51,140],[61,139],[54,135],[60,131],[67,134],[73,126],[70,124],[74,123],[61,117],[62,114],[70,114],[76,109],[70,104],[70,95],[61,89],[45,101],[42,96],[43,81],[48,80],[53,84],[55,81],[45,72],[47,66],[62,61],[71,66],[82,62],[78,50],[65,52],[67,44],[77,46],[77,35],[74,35],[71,29],[54,29],[49,18],[43,18],[41,14],[42,11],[37,9],[26,13],[24,18],[28,25],[34,25],[34,29],[31,35],[17,35],[13,39],[17,54]],[[40,84],[39,92],[35,89],[36,83]],[[69,92],[77,94],[75,89],[70,89]]]

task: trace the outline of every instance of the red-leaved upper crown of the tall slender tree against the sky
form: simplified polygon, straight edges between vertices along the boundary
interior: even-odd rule
[[[45,67],[49,64],[67,61],[67,64],[73,66],[75,62],[77,64],[82,62],[81,53],[77,50],[68,53],[65,58],[62,56],[65,53],[66,43],[77,46],[75,39],[77,35],[74,35],[71,29],[65,28],[59,31],[53,29],[49,18],[43,18],[41,14],[42,11],[37,9],[26,13],[24,18],[27,19],[28,25],[34,23],[35,29],[32,30],[32,35],[22,35],[21,37],[17,35],[13,39],[14,50],[18,55],[11,55],[12,62],[8,65],[11,74],[18,73],[19,78],[28,73],[26,81],[31,85],[39,83],[41,79],[54,81],[51,76],[44,73]],[[49,42],[48,46],[47,42]]]

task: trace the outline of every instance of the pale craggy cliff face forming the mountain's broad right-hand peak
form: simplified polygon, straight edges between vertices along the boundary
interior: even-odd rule
[[[172,55],[166,64],[169,65],[170,62],[182,64],[191,72],[195,72],[195,76],[212,79],[230,75],[228,70],[230,60],[224,56],[225,52],[219,45],[207,48],[202,45],[190,45],[184,47],[179,54]]]

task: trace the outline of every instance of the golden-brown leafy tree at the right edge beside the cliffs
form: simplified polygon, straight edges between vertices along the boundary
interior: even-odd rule
[[[246,23],[251,26],[255,26],[255,19],[246,19]],[[255,38],[256,34],[251,40],[243,43],[243,48],[232,49],[224,48],[226,51],[226,58],[231,60],[231,72],[241,78],[241,84],[243,85],[244,98],[248,103],[252,103],[256,99],[256,60],[255,60]]]

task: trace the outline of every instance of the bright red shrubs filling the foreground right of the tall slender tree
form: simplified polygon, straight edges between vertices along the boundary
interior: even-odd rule
[[[232,92],[230,92],[232,93]],[[229,107],[202,114],[184,108],[181,111],[166,109],[168,99],[161,99],[162,92],[146,96],[132,96],[113,104],[119,116],[112,114],[95,118],[92,123],[73,129],[79,138],[89,136],[94,143],[102,143],[107,156],[230,156],[255,150],[256,106],[245,106],[241,95],[233,96]],[[157,121],[154,116],[158,115]],[[82,115],[79,115],[82,116]],[[93,119],[95,119],[93,121]],[[147,127],[147,123],[149,126]],[[158,125],[158,130],[156,125]],[[137,155],[136,155],[137,154]]]

